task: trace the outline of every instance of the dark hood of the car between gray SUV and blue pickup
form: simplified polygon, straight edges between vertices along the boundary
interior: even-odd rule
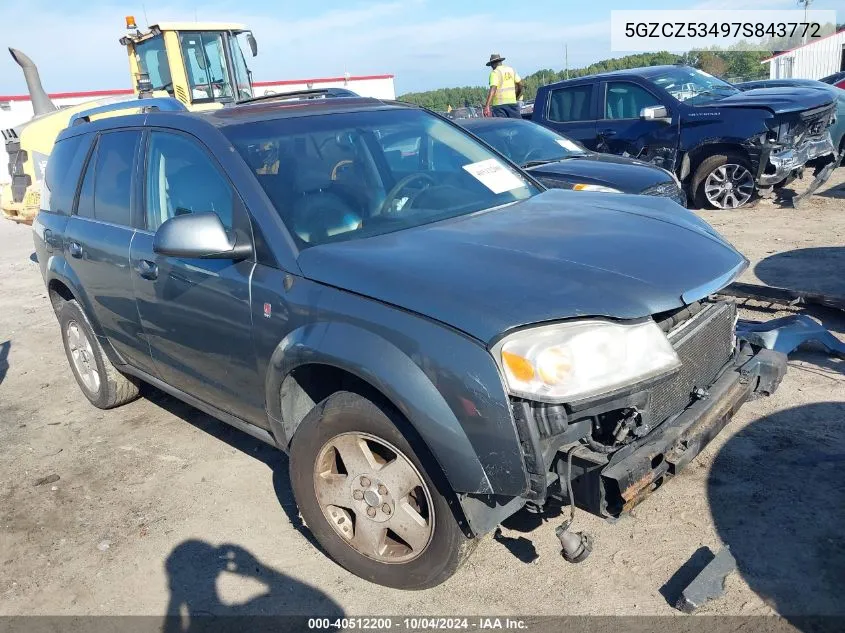
[[[529,167],[537,178],[548,177],[569,183],[588,183],[640,193],[643,189],[673,182],[665,171],[642,161],[610,154],[584,154],[545,165]]]

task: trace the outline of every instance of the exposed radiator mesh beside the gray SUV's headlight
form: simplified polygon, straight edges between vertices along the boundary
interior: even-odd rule
[[[734,351],[736,306],[716,303],[669,333],[669,341],[681,359],[680,370],[651,390],[651,422],[662,422],[692,402],[696,387],[713,384]]]

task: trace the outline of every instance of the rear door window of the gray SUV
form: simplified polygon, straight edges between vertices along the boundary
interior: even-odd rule
[[[132,168],[140,141],[138,130],[100,135],[82,179],[77,215],[123,226],[131,224]]]

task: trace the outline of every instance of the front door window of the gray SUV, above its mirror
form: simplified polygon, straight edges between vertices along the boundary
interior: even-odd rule
[[[208,154],[194,141],[153,132],[147,154],[147,229],[177,215],[214,212],[233,228],[234,191]]]

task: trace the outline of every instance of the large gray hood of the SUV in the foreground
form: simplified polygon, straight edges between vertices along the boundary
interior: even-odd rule
[[[669,200],[549,190],[470,216],[314,246],[299,265],[310,279],[489,343],[532,323],[679,308],[724,287],[748,262]]]

